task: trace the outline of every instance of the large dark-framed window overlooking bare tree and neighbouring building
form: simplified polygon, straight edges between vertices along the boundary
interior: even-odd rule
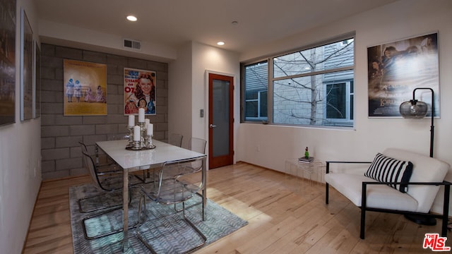
[[[242,63],[242,121],[352,127],[354,68],[352,36]]]

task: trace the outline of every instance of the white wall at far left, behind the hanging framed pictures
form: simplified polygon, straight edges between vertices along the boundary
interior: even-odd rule
[[[16,8],[16,123],[0,126],[0,246],[1,253],[20,253],[41,183],[41,120],[20,121],[20,7],[25,9],[37,39],[32,0]]]

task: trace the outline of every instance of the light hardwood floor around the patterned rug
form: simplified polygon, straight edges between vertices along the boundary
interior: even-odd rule
[[[89,181],[42,183],[23,253],[73,253],[68,190]],[[211,169],[208,198],[249,224],[196,253],[432,253],[422,241],[426,233],[441,232],[441,220],[420,226],[402,215],[369,212],[361,240],[359,208],[332,188],[326,205],[324,189],[246,163]]]

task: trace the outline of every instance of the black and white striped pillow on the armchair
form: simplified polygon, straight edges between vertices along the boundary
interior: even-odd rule
[[[374,162],[367,169],[364,176],[370,177],[380,182],[398,182],[401,184],[388,184],[392,188],[396,188],[401,193],[407,191],[407,183],[410,181],[412,174],[412,163],[386,157],[378,153]]]

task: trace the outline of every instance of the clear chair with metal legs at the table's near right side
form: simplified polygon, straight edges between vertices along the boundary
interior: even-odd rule
[[[163,167],[158,171],[158,179],[157,184],[147,184],[141,186],[142,196],[140,198],[140,204],[138,206],[138,224],[136,226],[136,236],[140,241],[142,241],[146,247],[152,252],[156,253],[154,248],[152,247],[152,243],[148,243],[145,240],[146,234],[152,234],[152,227],[157,226],[158,222],[162,220],[162,218],[166,218],[169,216],[180,216],[180,213],[170,212],[169,214],[165,214],[163,217],[153,217],[148,218],[143,224],[141,222],[141,211],[144,203],[144,207],[146,210],[145,198],[149,198],[154,202],[157,202],[162,205],[172,205],[182,203],[182,221],[185,222],[184,225],[187,226],[184,230],[191,230],[194,234],[190,237],[193,238],[194,235],[198,236],[195,246],[189,247],[188,250],[184,250],[184,253],[192,252],[198,248],[201,248],[206,243],[206,236],[204,236],[201,231],[186,217],[186,207],[185,202],[196,195],[198,191],[203,188],[202,176],[200,174],[200,169],[194,169],[191,167],[192,164],[201,163],[201,169],[203,164],[203,157],[198,157],[195,159],[183,159],[172,162],[165,162]],[[180,168],[192,169],[190,172],[184,172],[184,174],[180,174]],[[149,223],[146,223],[149,222]],[[179,225],[179,223],[177,223]]]

